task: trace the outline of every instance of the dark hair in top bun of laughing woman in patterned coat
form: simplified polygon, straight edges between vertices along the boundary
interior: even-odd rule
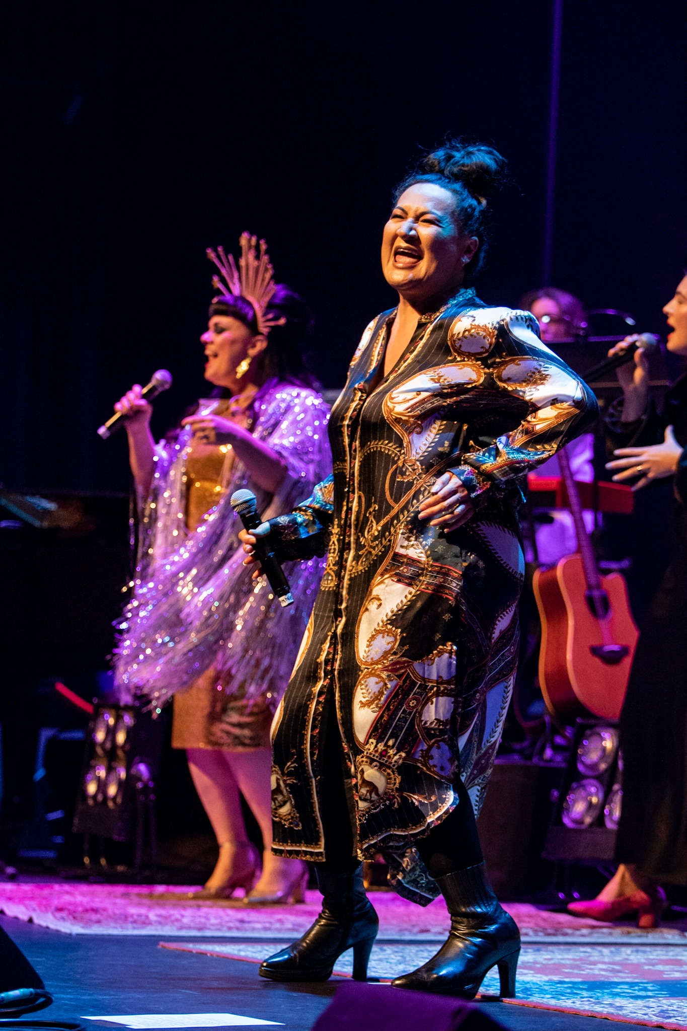
[[[393,191],[393,203],[415,182],[434,182],[455,199],[455,218],[468,236],[476,236],[479,246],[466,267],[475,275],[482,268],[488,245],[489,198],[506,180],[506,159],[486,143],[447,139],[444,146],[425,155],[415,171]]]

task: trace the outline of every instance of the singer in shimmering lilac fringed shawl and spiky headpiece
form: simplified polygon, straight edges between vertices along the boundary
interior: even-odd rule
[[[172,744],[185,749],[219,858],[197,897],[249,890],[260,857],[247,839],[240,794],[265,845],[248,899],[302,896],[307,867],[270,851],[269,727],[288,680],[322,571],[312,558],[291,567],[295,604],[281,608],[265,581],[243,567],[232,493],[249,488],[259,510],[289,511],[331,468],[329,411],[304,370],[306,305],[275,286],[265,245],[241,237],[218,266],[210,306],[205,378],[210,398],[181,430],[153,443],[150,405],[134,387],[115,408],[127,417],[140,501],[139,561],[125,612],[116,677],[125,695],[160,706],[174,695]],[[288,570],[287,570],[288,571]]]

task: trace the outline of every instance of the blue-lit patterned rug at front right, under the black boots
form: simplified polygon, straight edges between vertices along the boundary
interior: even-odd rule
[[[509,907],[512,908],[512,907]],[[161,942],[163,949],[204,953],[259,963],[272,951],[270,942]],[[273,946],[272,946],[273,947]],[[382,980],[426,962],[430,944],[375,944],[369,974]],[[337,963],[335,974],[350,976],[351,953]],[[499,992],[495,971],[482,985],[482,997]],[[511,1005],[557,1012],[605,1017],[644,1027],[687,1029],[687,947],[643,943],[615,945],[526,943],[518,964],[517,999]]]

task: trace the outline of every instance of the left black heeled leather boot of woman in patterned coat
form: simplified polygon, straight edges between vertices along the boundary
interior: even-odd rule
[[[366,980],[379,919],[365,894],[363,864],[353,873],[334,873],[327,863],[315,870],[319,917],[298,941],[265,960],[259,973],[270,980],[328,980],[341,954],[352,949],[353,979]]]

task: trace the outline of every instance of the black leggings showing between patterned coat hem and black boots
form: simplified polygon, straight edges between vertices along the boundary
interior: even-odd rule
[[[352,872],[358,865],[353,853],[351,813],[344,787],[345,764],[341,733],[334,702],[328,705],[322,740],[321,820],[324,831],[327,865],[340,872]],[[458,778],[455,788],[458,804],[437,827],[417,843],[431,876],[465,870],[482,862],[482,847],[475,812],[468,791]]]

